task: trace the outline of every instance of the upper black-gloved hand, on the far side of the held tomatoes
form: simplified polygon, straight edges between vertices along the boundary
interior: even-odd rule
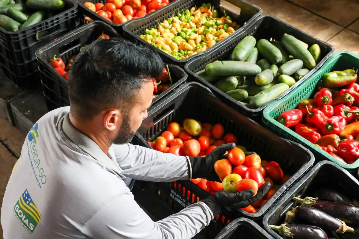
[[[214,170],[214,163],[220,159],[226,159],[227,155],[224,155],[225,152],[234,149],[236,144],[223,144],[216,147],[209,155],[205,157],[197,156],[191,157],[190,163],[192,167],[192,178],[205,178],[208,181],[212,182],[222,182],[216,171]],[[256,154],[255,152],[244,152],[244,155],[248,156],[251,154]]]

